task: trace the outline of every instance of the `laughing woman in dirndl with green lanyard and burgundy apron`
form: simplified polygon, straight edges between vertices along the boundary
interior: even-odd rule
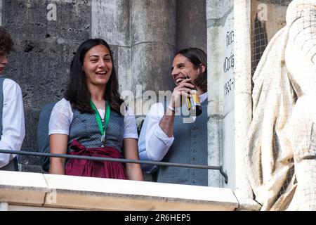
[[[50,153],[138,160],[132,110],[119,95],[110,46],[88,39],[72,59],[65,96],[49,120]],[[143,180],[139,164],[51,158],[49,172],[73,176]]]

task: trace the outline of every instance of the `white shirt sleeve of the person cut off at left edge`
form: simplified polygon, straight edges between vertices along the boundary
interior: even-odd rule
[[[25,119],[20,86],[12,79],[4,79],[4,106],[0,149],[20,150],[25,137]],[[16,155],[0,153],[0,168]]]

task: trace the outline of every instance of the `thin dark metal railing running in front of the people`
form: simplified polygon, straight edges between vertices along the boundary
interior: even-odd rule
[[[158,166],[167,166],[167,167],[214,169],[214,170],[219,170],[220,174],[224,177],[225,184],[228,184],[228,175],[225,174],[225,172],[223,171],[223,166],[191,165],[191,164],[173,163],[173,162],[126,160],[126,159],[103,158],[103,157],[95,157],[95,156],[39,153],[39,152],[33,152],[33,151],[28,151],[28,150],[0,150],[0,153],[7,153],[7,154],[14,154],[14,155],[44,156],[44,157],[54,157],[54,158],[69,158],[69,159],[79,159],[79,160],[96,160],[96,161],[110,161],[110,162],[123,162],[123,163],[137,163],[137,164],[158,165]]]

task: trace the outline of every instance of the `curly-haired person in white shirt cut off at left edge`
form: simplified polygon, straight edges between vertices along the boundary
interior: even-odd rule
[[[20,150],[25,137],[24,108],[20,86],[12,79],[2,77],[13,50],[11,35],[0,27],[0,149]],[[0,153],[0,170],[18,171],[14,154]]]

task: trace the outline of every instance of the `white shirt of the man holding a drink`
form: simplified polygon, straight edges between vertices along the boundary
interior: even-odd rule
[[[200,102],[207,99],[207,92],[199,96]],[[164,105],[156,103],[150,108],[150,112],[145,117],[142,130],[138,140],[138,150],[140,160],[146,161],[161,161],[170,146],[173,143],[174,137],[167,136],[159,126],[160,120],[164,116]],[[196,117],[192,117],[195,120]],[[143,172],[154,172],[157,166],[142,165]]]

